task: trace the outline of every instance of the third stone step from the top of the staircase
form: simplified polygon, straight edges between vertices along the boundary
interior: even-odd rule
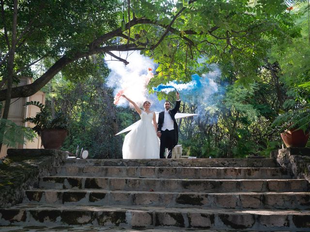
[[[126,191],[172,191],[172,192],[288,192],[308,191],[304,179],[157,179],[157,178],[115,178],[45,176],[39,181],[39,188],[47,189],[106,189]]]

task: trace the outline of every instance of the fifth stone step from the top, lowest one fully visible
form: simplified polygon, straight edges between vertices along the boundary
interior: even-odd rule
[[[11,223],[309,231],[310,211],[20,204],[0,209],[0,225]]]

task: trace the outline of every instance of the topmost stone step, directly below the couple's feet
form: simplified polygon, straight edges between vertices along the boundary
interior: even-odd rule
[[[127,167],[249,167],[277,168],[275,159],[67,159],[64,166],[127,166]]]

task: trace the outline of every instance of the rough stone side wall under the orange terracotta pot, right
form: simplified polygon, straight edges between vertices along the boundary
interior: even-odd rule
[[[282,167],[290,168],[298,179],[305,178],[310,183],[310,148],[290,147],[271,153]]]

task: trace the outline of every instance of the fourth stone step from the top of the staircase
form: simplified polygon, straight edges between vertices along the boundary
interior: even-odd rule
[[[64,205],[143,205],[234,209],[310,209],[310,192],[152,192],[98,189],[33,189],[24,203]]]

